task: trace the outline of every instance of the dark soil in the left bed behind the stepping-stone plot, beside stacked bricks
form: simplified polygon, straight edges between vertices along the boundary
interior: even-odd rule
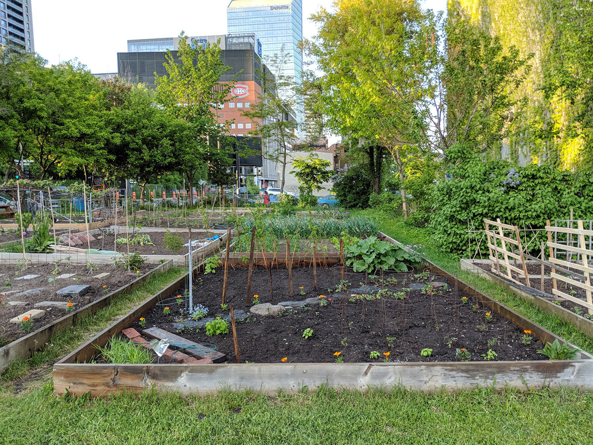
[[[132,230],[129,230],[128,239],[132,240],[136,234],[144,234],[139,233],[132,233]],[[152,244],[145,244],[141,246],[141,244],[130,244],[130,253],[138,253],[140,255],[185,255],[187,253],[187,247],[181,247],[179,252],[171,252],[167,247],[165,247],[164,243],[164,236],[165,231],[162,232],[146,232],[150,236]],[[188,232],[174,232],[174,234],[178,235],[183,239],[183,243],[186,244],[189,242],[189,233]],[[192,240],[203,240],[207,237],[212,237],[213,234],[209,234],[203,231],[192,231]],[[116,247],[117,252],[125,253],[127,252],[127,244],[115,244],[115,235],[112,231],[104,231],[102,235],[94,235],[95,240],[91,241],[91,249],[99,249],[99,250],[111,250],[113,251],[113,247]],[[126,233],[123,231],[122,233],[117,233],[117,238],[125,238]],[[87,249],[87,246],[76,246],[82,247],[83,249]]]

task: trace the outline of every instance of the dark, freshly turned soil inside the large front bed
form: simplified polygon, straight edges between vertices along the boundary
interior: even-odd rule
[[[460,293],[450,284],[439,288],[434,294],[423,293],[422,290],[409,290],[411,283],[431,285],[435,281],[443,281],[438,275],[422,273],[387,273],[383,279],[394,279],[394,284],[385,285],[390,295],[380,299],[356,299],[350,301],[350,294],[355,288],[368,283],[381,285],[378,278],[372,279],[366,274],[347,273],[346,280],[352,283],[348,291],[335,290],[340,282],[339,268],[317,269],[318,289],[313,287],[313,269],[294,269],[294,297],[289,296],[288,271],[273,270],[274,302],[304,300],[307,297],[327,296],[328,305],[314,304],[305,309],[295,308],[283,311],[278,317],[254,317],[250,314],[245,322],[237,323],[238,346],[241,362],[277,363],[283,357],[289,362],[332,362],[335,352],[345,362],[381,361],[384,352],[389,352],[390,361],[459,361],[456,357],[457,348],[466,348],[470,360],[483,360],[489,348],[498,354],[496,360],[544,360],[543,355],[535,352],[543,345],[533,339],[530,345],[523,345],[521,337],[524,332],[498,314],[493,321],[487,322],[485,313],[489,311],[470,295]],[[194,295],[197,303],[209,308],[209,316],[222,313],[221,289],[223,271],[216,274],[196,277]],[[201,279],[200,279],[201,278]],[[249,311],[246,304],[247,269],[229,270],[227,303],[234,306],[235,311]],[[302,288],[302,289],[301,289]],[[272,301],[270,298],[269,272],[258,268],[253,273],[252,293],[259,295],[260,303]],[[404,298],[398,299],[394,293],[403,292]],[[168,303],[171,313],[164,315],[162,306],[155,306],[145,315],[146,326],[157,326],[168,332],[176,332],[173,323],[184,319],[181,308],[174,297],[183,294],[179,289],[171,295],[173,300]],[[302,293],[302,295],[301,295]],[[468,303],[463,303],[462,297]],[[323,298],[320,298],[323,300]],[[474,307],[474,309],[473,309]],[[133,328],[142,331],[138,323]],[[308,339],[302,338],[305,329],[311,328],[314,333]],[[229,326],[229,332],[232,332]],[[178,335],[197,343],[215,344],[219,351],[235,362],[232,333],[228,335],[206,336],[205,328],[196,332],[186,329]],[[388,340],[387,338],[393,337]],[[489,339],[492,345],[487,344]],[[451,347],[447,344],[451,341]],[[420,357],[423,348],[431,348],[432,357]],[[371,360],[371,351],[378,351],[380,359]]]

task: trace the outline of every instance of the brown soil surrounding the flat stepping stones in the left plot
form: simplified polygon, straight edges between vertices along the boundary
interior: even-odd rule
[[[34,320],[31,332],[53,323],[66,314],[65,308],[34,307],[35,303],[41,301],[63,301],[68,303],[68,301],[71,301],[74,304],[72,310],[76,310],[132,282],[150,268],[151,265],[142,265],[137,269],[140,271],[137,274],[136,271],[127,272],[119,266],[113,268],[113,265],[95,265],[93,266],[93,272],[90,272],[85,265],[69,265],[66,268],[61,263],[59,265],[59,274],[52,274],[55,271],[53,264],[33,265],[25,269],[25,271],[21,270],[20,266],[0,266],[0,347],[27,335],[28,332],[24,332],[20,325],[9,322],[10,319],[25,313],[27,310],[42,309],[45,311],[43,317]],[[109,276],[94,278],[94,276],[103,273],[108,273]],[[74,274],[74,276],[55,279],[62,274]],[[16,279],[24,275],[39,276],[33,279]],[[49,282],[50,279],[52,279],[52,282]],[[80,297],[60,297],[56,294],[56,291],[69,285],[90,285],[91,288],[87,294]],[[39,290],[39,293],[19,295],[19,293],[31,290]],[[11,305],[9,304],[11,301],[20,301],[25,304]]]

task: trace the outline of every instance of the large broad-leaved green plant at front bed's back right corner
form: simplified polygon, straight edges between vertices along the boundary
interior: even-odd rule
[[[371,272],[375,269],[406,272],[407,265],[417,263],[420,257],[409,253],[396,244],[380,241],[375,236],[359,240],[344,249],[346,265],[355,272]]]

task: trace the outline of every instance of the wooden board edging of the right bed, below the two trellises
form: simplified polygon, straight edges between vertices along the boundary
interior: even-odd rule
[[[542,298],[538,295],[527,293],[524,290],[522,290],[521,287],[519,287],[519,285],[511,284],[505,281],[504,279],[500,278],[500,276],[491,274],[485,269],[480,268],[480,266],[474,265],[471,262],[471,260],[461,259],[460,265],[461,269],[463,269],[464,271],[472,272],[476,275],[482,276],[488,281],[491,281],[499,285],[500,287],[504,288],[505,290],[514,293],[518,297],[530,301],[535,307],[538,307],[539,309],[549,314],[556,315],[565,322],[568,322],[571,325],[575,326],[575,328],[585,333],[587,336],[589,336],[589,338],[593,339],[593,321],[587,320],[585,317],[578,316],[573,311],[565,309],[564,307],[559,306],[558,304],[554,304],[552,303],[552,301],[546,300],[546,298]],[[550,298],[553,298],[553,296],[550,295]]]

